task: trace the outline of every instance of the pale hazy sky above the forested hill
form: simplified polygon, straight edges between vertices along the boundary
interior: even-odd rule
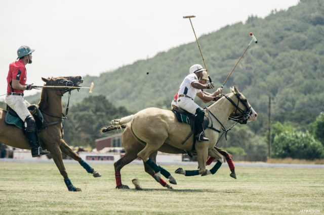
[[[298,2],[0,0],[0,95],[7,92],[9,64],[21,45],[35,49],[33,63],[26,65],[27,82],[43,85],[41,77],[99,76],[195,41],[190,22],[183,16],[196,16],[191,20],[199,37],[245,22],[251,15],[264,18],[272,10],[287,10]]]

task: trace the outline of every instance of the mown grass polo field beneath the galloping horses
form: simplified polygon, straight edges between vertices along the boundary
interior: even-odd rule
[[[115,189],[113,165],[92,165],[93,178],[78,164],[66,164],[74,186],[69,192],[50,163],[0,162],[0,214],[296,214],[324,212],[324,171],[308,168],[237,167],[237,179],[226,166],[205,177],[173,174],[174,190],[160,186],[143,165],[121,171],[130,190]],[[164,166],[174,172],[180,166]],[[194,170],[193,166],[183,166]],[[138,178],[143,190],[135,190]]]

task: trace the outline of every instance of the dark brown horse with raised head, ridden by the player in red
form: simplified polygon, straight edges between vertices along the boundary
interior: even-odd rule
[[[101,175],[95,171],[88,163],[86,163],[77,153],[75,153],[63,140],[62,119],[65,119],[62,107],[62,96],[72,89],[69,86],[77,86],[83,83],[81,76],[69,76],[58,78],[42,78],[46,82],[45,86],[66,86],[66,88],[43,88],[41,101],[38,108],[43,113],[43,117],[50,125],[39,132],[39,141],[43,149],[51,152],[53,160],[64,178],[64,182],[69,191],[81,191],[72,185],[67,176],[62,160],[62,152],[79,162],[88,173],[94,177]],[[23,131],[14,125],[5,123],[6,110],[0,109],[0,142],[16,148],[30,149],[27,137]]]

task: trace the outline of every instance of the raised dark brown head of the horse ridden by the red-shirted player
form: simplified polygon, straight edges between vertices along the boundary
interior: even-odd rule
[[[60,91],[70,91],[71,88],[64,87],[79,87],[79,84],[83,83],[81,76],[65,76],[57,78],[42,78],[45,82],[45,86],[63,86]]]

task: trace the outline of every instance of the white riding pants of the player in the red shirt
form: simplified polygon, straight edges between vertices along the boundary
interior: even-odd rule
[[[23,96],[7,95],[6,103],[17,113],[17,115],[23,122],[25,122],[27,116],[31,116],[30,112],[27,109],[30,103],[26,101]]]

